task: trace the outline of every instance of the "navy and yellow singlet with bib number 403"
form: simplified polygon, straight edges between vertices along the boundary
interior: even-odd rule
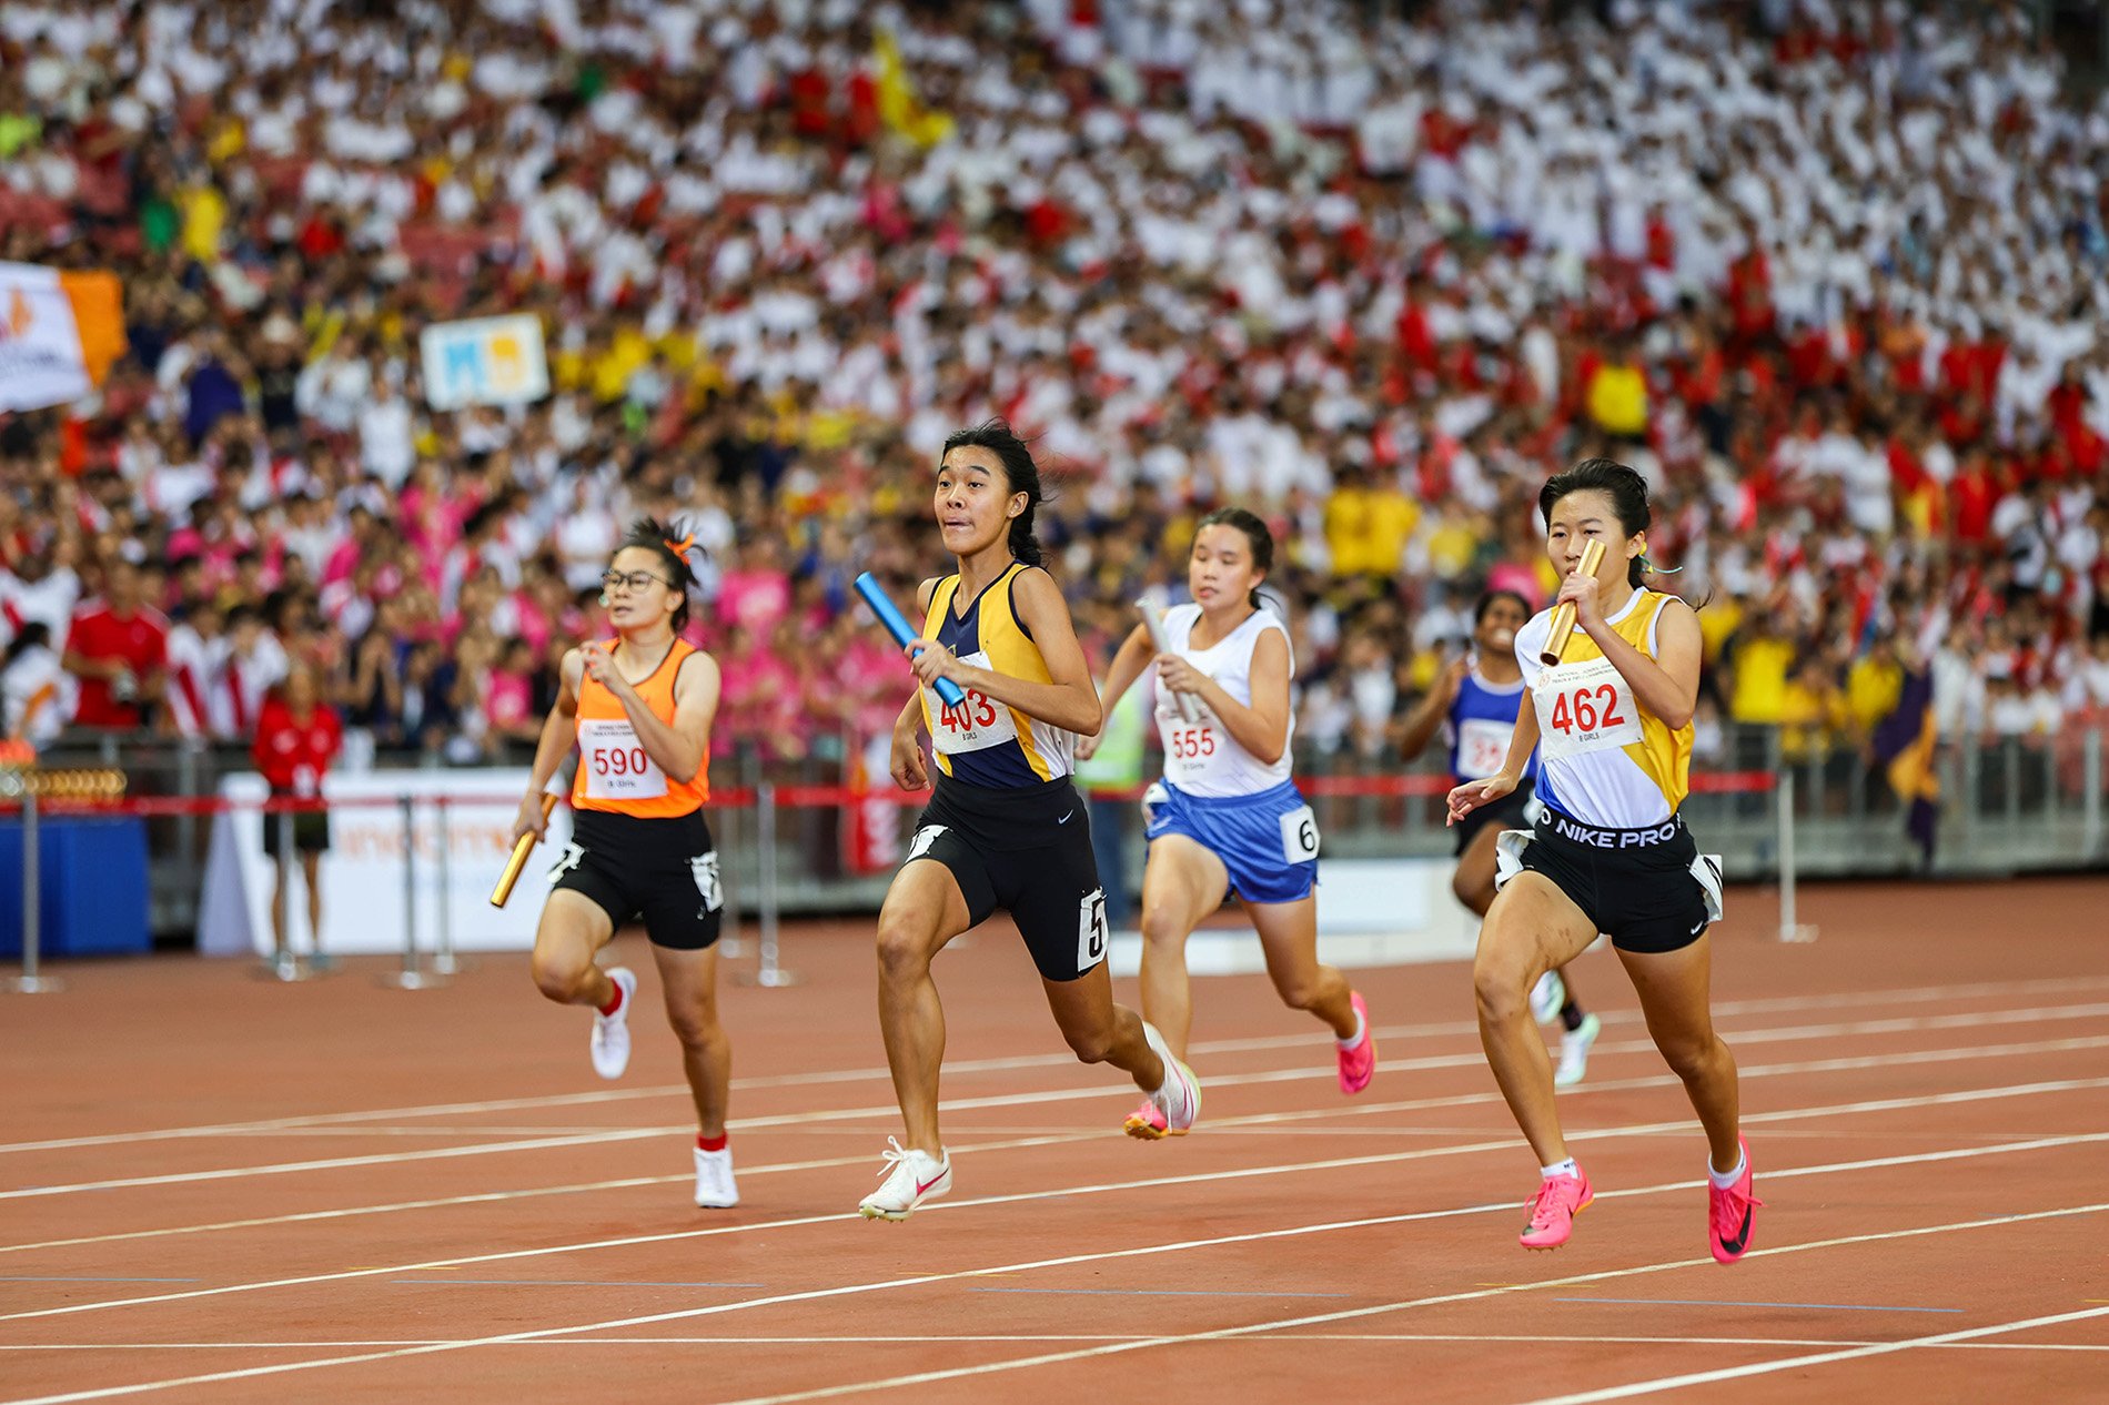
[[[1023,570],[1029,567],[1012,561],[983,586],[966,614],[953,612],[960,578],[939,580],[924,614],[924,637],[949,648],[964,665],[1052,684],[1040,646],[1012,608],[1010,591]],[[1076,770],[1076,732],[1027,717],[972,688],[960,707],[945,707],[928,688],[922,700],[936,766],[955,781],[993,791],[1046,785]]]

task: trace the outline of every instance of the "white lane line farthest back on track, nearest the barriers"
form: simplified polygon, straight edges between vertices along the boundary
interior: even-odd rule
[[[1869,1008],[1875,1004],[1932,1004],[1940,1000],[1978,1000],[1978,998],[2001,998],[2001,996],[2035,996],[2035,994],[2058,994],[2073,996],[2086,989],[2109,987],[2109,977],[2044,977],[2033,981],[1989,981],[1982,985],[1907,985],[1896,989],[1871,989],[1871,992],[1837,992],[1829,996],[1767,996],[1761,1000],[1719,1000],[1713,1006],[1715,1019],[1736,1017],[1736,1015],[1765,1015],[1776,1011],[1824,1011],[1824,1008]],[[1639,1023],[1639,1013],[1634,1011],[1611,1011],[1603,1015],[1607,1025],[1615,1023]],[[1419,1036],[1464,1036],[1476,1034],[1478,1025],[1470,1021],[1447,1021],[1430,1025],[1379,1025],[1377,1038],[1398,1040],[1398,1038],[1419,1038]],[[1748,1038],[1748,1036],[1738,1036]],[[1265,1048],[1301,1048],[1312,1040],[1305,1034],[1278,1034],[1263,1038],[1244,1040],[1213,1040],[1194,1044],[1194,1053],[1242,1053],[1242,1051],[1265,1051]],[[1031,1070],[1031,1067],[1071,1067],[1073,1059],[1067,1055],[1017,1055],[1006,1059],[957,1059],[945,1063],[947,1076],[957,1074],[981,1074],[981,1072],[1006,1072],[1006,1070]],[[890,1078],[886,1067],[858,1067],[858,1070],[829,1070],[812,1074],[774,1074],[763,1078],[734,1078],[734,1091],[747,1089],[789,1089],[789,1086],[820,1086],[831,1082],[875,1082]],[[477,1114],[477,1112],[519,1112],[527,1108],[578,1108],[593,1103],[618,1103],[637,1101],[652,1097],[688,1097],[688,1084],[666,1082],[643,1089],[605,1089],[595,1093],[548,1093],[538,1097],[498,1097],[472,1103],[422,1103],[413,1108],[373,1108],[365,1112],[312,1112],[285,1118],[262,1118],[255,1122],[207,1122],[196,1127],[162,1127],[152,1131],[133,1133],[97,1133],[89,1137],[51,1137],[42,1141],[0,1141],[0,1154],[11,1152],[55,1152],[67,1148],[86,1146],[131,1146],[137,1141],[167,1141],[181,1137],[221,1137],[240,1131],[278,1131],[297,1127],[327,1127],[335,1122],[384,1122],[390,1118],[420,1118],[420,1116],[456,1116],[456,1114]]]

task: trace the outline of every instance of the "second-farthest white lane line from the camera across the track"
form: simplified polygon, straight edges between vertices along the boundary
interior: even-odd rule
[[[1797,1042],[1797,1040],[1829,1040],[1847,1038],[1860,1034],[1911,1034],[1921,1029],[1966,1029],[1974,1025],[1991,1023],[2048,1023],[2058,1019],[2098,1019],[2109,1015],[2109,1004],[2075,1004],[2075,1006],[2039,1006],[2031,1011],[1997,1011],[1991,1015],[1932,1015],[1923,1019],[1873,1019],[1873,1021],[1847,1021],[1835,1025],[1788,1025],[1780,1029],[1744,1029],[1736,1034],[1738,1044],[1774,1044],[1774,1042]],[[1613,1044],[1599,1044],[1599,1055],[1624,1055],[1624,1053],[1653,1053],[1651,1040],[1620,1040]],[[1419,1059],[1392,1059],[1384,1067],[1390,1072],[1436,1072],[1449,1067],[1476,1067],[1485,1063],[1481,1051],[1455,1053],[1455,1055],[1428,1055]],[[1206,1080],[1211,1089],[1238,1089],[1238,1086],[1261,1086],[1274,1082],[1301,1082],[1308,1078],[1331,1078],[1335,1070],[1324,1067],[1286,1067],[1286,1070],[1263,1070],[1253,1074],[1215,1074]],[[1120,1089],[1118,1084],[1095,1084],[1086,1089],[1046,1089],[1038,1093],[1000,1093],[989,1097],[960,1097],[939,1103],[941,1112],[981,1112],[987,1108],[1025,1108],[1044,1103],[1069,1103],[1086,1101],[1099,1097],[1135,1097],[1133,1091]],[[759,1118],[734,1118],[728,1122],[732,1131],[759,1131],[772,1127],[814,1127],[825,1122],[860,1122],[867,1118],[894,1118],[898,1108],[892,1103],[875,1103],[867,1108],[831,1108],[818,1112],[780,1112]],[[129,1175],[105,1181],[72,1181],[63,1186],[23,1186],[17,1190],[0,1190],[0,1200],[32,1200],[46,1196],[82,1194],[93,1190],[139,1190],[148,1186],[188,1186],[198,1181],[228,1181],[247,1179],[253,1175],[302,1175],[308,1171],[346,1171],[356,1167],[386,1167],[411,1160],[456,1160],[462,1156],[498,1156],[506,1152],[544,1152],[555,1148],[574,1146],[595,1146],[595,1143],[616,1143],[616,1141],[637,1141],[641,1137],[664,1137],[685,1131],[683,1124],[669,1127],[620,1127],[595,1133],[576,1133],[565,1137],[523,1137],[510,1141],[477,1141],[468,1146],[443,1146],[424,1148],[418,1152],[378,1152],[369,1156],[323,1156],[314,1160],[280,1160],[268,1165],[249,1167],[217,1167],[209,1171],[171,1171],[165,1175]]]

